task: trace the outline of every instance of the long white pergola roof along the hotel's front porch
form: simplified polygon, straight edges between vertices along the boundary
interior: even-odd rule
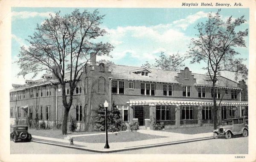
[[[131,99],[126,102],[132,105],[198,105],[198,106],[213,106],[212,100],[182,100],[182,99]],[[238,101],[216,101],[217,106],[248,106],[248,102]]]

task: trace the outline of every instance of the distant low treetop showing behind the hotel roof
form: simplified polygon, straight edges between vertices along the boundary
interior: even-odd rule
[[[164,52],[161,52],[159,59],[156,58],[154,64],[150,64],[150,63],[148,63],[148,61],[146,61],[146,63],[143,64],[142,67],[159,68],[162,70],[177,71],[180,68],[182,68],[183,66],[185,66],[185,64],[183,63],[185,59],[186,58],[181,57],[179,53],[171,54],[171,55],[169,55],[169,57],[167,57],[164,54]]]

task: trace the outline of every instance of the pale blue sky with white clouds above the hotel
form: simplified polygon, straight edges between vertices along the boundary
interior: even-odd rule
[[[18,59],[21,46],[28,46],[29,35],[35,32],[36,24],[41,24],[49,14],[61,11],[61,15],[70,14],[77,8],[12,8],[12,83],[24,84],[32,75],[17,76],[20,71],[14,62]],[[87,9],[94,11],[97,8],[78,8],[80,11]],[[105,14],[102,28],[108,32],[99,41],[109,42],[115,48],[111,51],[112,58],[98,57],[97,60],[111,60],[118,65],[131,65],[140,67],[148,61],[154,63],[154,59],[163,51],[166,55],[180,54],[184,56],[188,51],[188,44],[195,38],[197,23],[205,22],[209,12],[215,13],[218,9],[202,8],[99,8],[100,14]],[[245,30],[249,28],[249,9],[221,9],[221,18],[227,20],[244,15],[246,23],[237,28]],[[247,59],[244,63],[249,65],[249,37],[245,37],[246,47],[237,47],[241,55]],[[193,73],[205,74],[203,64],[190,64],[185,61]],[[43,73],[41,73],[43,74]],[[35,79],[39,79],[41,74]],[[222,74],[225,76],[225,74]],[[226,77],[227,74],[226,74]]]

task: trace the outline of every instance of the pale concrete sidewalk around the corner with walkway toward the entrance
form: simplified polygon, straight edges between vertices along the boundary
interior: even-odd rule
[[[86,143],[86,142],[77,142],[74,141],[75,145],[70,145],[70,141],[68,139],[56,139],[49,138],[43,136],[33,136],[33,142],[46,143],[50,145],[59,145],[63,147],[76,148],[80,150],[93,151],[99,153],[110,153],[110,152],[118,152],[118,151],[127,151],[141,148],[150,148],[157,147],[163,145],[173,145],[184,142],[193,142],[198,140],[206,140],[212,139],[212,133],[203,133],[203,134],[179,134],[172,132],[164,132],[164,131],[153,131],[153,130],[138,130],[141,134],[151,134],[158,136],[166,136],[165,138],[159,139],[147,139],[141,141],[133,141],[133,142],[113,142],[109,141],[110,149],[105,149],[105,143]],[[86,134],[86,136],[96,136],[99,134]],[[82,136],[82,135],[79,135]]]

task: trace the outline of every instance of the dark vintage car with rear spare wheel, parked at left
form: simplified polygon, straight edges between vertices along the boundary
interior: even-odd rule
[[[14,142],[17,142],[17,140],[30,142],[32,136],[28,132],[28,126],[14,126],[10,138],[13,139]]]

